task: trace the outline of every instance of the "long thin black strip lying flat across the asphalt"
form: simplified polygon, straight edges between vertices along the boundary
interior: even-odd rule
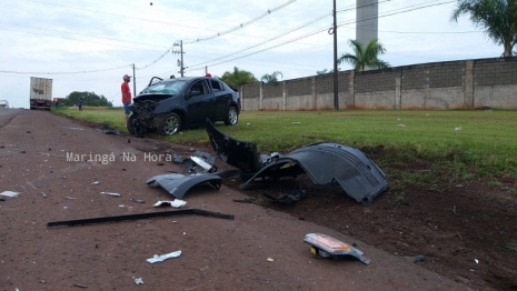
[[[160,211],[160,212],[149,212],[149,213],[139,213],[139,214],[118,215],[118,217],[52,221],[52,222],[48,222],[47,227],[48,228],[73,227],[73,225],[86,225],[86,224],[116,222],[116,221],[125,221],[125,220],[151,219],[151,218],[189,215],[189,214],[229,219],[229,220],[235,219],[235,215],[231,215],[231,214],[222,214],[219,212],[206,211],[206,210],[200,210],[200,209],[181,209],[181,210],[175,210],[175,211]]]

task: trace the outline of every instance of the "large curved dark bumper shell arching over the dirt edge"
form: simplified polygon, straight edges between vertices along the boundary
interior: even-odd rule
[[[315,184],[337,182],[348,195],[364,204],[388,189],[386,174],[364,152],[332,142],[307,144],[287,153],[266,164],[240,189],[257,178],[285,177],[285,173],[298,173],[300,168]]]

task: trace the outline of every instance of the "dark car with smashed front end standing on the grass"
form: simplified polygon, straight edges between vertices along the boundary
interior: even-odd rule
[[[152,78],[133,98],[128,131],[136,136],[159,132],[172,136],[180,130],[203,126],[208,119],[236,126],[239,121],[239,93],[217,78]]]

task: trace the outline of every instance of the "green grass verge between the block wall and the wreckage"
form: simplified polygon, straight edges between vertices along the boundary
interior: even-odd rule
[[[121,109],[57,111],[127,132]],[[483,179],[488,187],[505,189],[500,178],[517,178],[515,111],[242,111],[239,118],[236,127],[216,126],[235,139],[255,142],[260,153],[287,153],[320,141],[362,150],[388,174],[397,202],[411,188],[446,191]],[[203,128],[152,137],[209,146]]]

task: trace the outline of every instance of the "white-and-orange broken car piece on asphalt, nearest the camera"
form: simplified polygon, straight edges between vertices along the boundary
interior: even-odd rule
[[[362,257],[361,251],[327,234],[308,233],[304,241],[311,245],[312,254],[318,254],[321,258],[352,257],[365,264],[370,263],[369,259]]]

